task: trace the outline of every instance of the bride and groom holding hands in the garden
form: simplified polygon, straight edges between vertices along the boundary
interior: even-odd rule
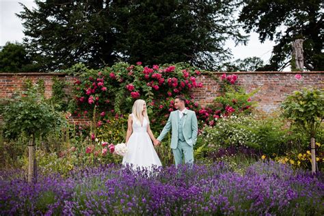
[[[154,146],[161,144],[167,133],[172,131],[171,148],[176,166],[183,163],[193,165],[193,146],[197,141],[198,121],[195,112],[185,107],[186,99],[176,96],[174,107],[176,111],[170,113],[163,131],[155,139],[151,129],[150,120],[146,112],[145,100],[136,100],[132,113],[129,115],[126,133],[128,152],[124,155],[122,164],[150,169],[152,166],[161,166],[161,161]],[[154,144],[154,146],[153,146]]]

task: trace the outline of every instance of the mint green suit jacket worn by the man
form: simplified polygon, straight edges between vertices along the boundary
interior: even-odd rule
[[[185,141],[187,144],[189,144],[189,146],[194,146],[198,135],[198,121],[197,117],[195,116],[195,112],[186,109],[186,111],[183,113],[183,118],[183,136],[185,137]],[[159,141],[162,141],[165,135],[167,135],[167,133],[172,129],[171,148],[173,149],[176,149],[178,146],[178,120],[178,110],[172,111],[161,134],[159,137],[157,137]]]

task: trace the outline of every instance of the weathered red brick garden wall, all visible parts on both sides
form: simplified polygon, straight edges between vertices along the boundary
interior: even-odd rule
[[[213,72],[214,77],[221,77],[223,72]],[[239,85],[245,87],[247,92],[258,89],[254,100],[258,101],[258,109],[271,112],[284,100],[286,94],[291,94],[301,87],[324,88],[324,71],[320,72],[237,72]],[[301,74],[302,79],[297,81],[296,74]],[[53,77],[72,83],[73,77],[62,73],[0,73],[0,99],[14,95],[14,92],[23,90],[26,79],[36,83],[43,79],[45,83],[45,96],[51,96]],[[200,75],[197,80],[204,84],[204,88],[193,91],[196,100],[201,105],[207,105],[218,95],[219,85],[217,81],[206,74]],[[70,88],[67,87],[69,92]],[[72,122],[84,124],[87,120],[83,118],[72,118]]]

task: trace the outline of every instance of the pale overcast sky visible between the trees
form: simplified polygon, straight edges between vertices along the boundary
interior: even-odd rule
[[[27,8],[35,7],[33,0],[0,0],[0,46],[6,42],[22,42],[24,33],[22,21],[15,14],[23,10],[18,2]],[[246,57],[260,57],[265,63],[269,62],[274,42],[266,40],[260,43],[257,33],[251,33],[247,46],[235,46],[234,42],[226,42],[226,46],[232,50],[233,59],[245,59]]]

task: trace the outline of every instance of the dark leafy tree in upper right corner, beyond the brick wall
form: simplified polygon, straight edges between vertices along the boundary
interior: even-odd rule
[[[247,33],[256,31],[261,42],[275,40],[264,70],[282,70],[291,63],[292,43],[303,39],[304,66],[324,70],[324,23],[321,0],[243,1],[239,21]]]

